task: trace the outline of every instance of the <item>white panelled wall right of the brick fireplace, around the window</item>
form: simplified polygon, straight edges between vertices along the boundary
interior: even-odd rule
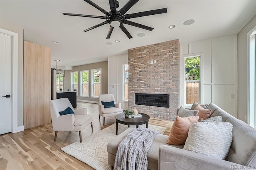
[[[204,72],[200,90],[201,104],[214,103],[237,117],[237,35],[181,45],[182,60],[198,53],[203,56],[200,67]]]

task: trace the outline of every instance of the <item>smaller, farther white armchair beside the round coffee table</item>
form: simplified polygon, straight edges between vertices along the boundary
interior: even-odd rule
[[[104,108],[104,105],[101,102],[112,102],[114,101],[115,107]],[[113,94],[100,94],[99,95],[99,114],[103,117],[103,126],[105,125],[105,117],[115,116],[119,113],[122,113],[123,109],[121,108],[121,103],[116,103]],[[99,120],[100,120],[99,115]]]

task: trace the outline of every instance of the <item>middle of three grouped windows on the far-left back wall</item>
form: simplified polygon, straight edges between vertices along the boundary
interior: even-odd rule
[[[88,70],[80,71],[80,96],[89,97],[88,78]]]

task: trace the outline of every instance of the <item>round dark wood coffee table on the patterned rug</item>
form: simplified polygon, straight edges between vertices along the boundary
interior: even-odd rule
[[[146,115],[144,113],[139,113],[139,114],[141,114],[142,117],[128,118],[128,117],[125,117],[124,113],[120,113],[116,115],[116,135],[118,131],[118,123],[128,125],[128,127],[130,127],[130,125],[136,125],[136,128],[138,128],[139,125],[146,123],[146,128],[148,128],[149,115]]]

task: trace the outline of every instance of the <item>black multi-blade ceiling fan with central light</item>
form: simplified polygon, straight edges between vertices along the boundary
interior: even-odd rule
[[[142,28],[142,29],[152,31],[152,29],[154,29],[154,28],[148,27],[146,25],[142,25],[140,23],[135,23],[135,22],[129,21],[128,19],[143,17],[143,16],[156,15],[156,14],[163,14],[163,13],[167,12],[167,8],[162,8],[162,9],[158,9],[158,10],[150,10],[150,11],[138,12],[138,13],[134,13],[134,14],[126,14],[126,12],[130,8],[132,8],[132,6],[134,6],[134,4],[136,4],[139,0],[129,0],[129,2],[127,2],[124,5],[124,7],[121,8],[119,11],[116,10],[116,8],[119,7],[119,2],[117,0],[109,0],[110,12],[107,12],[106,10],[104,10],[100,6],[94,4],[94,2],[92,2],[90,0],[84,0],[84,1],[87,2],[88,4],[92,5],[94,8],[97,8],[98,10],[100,10],[106,16],[92,16],[92,15],[70,14],[70,13],[62,13],[62,14],[67,15],[67,16],[81,16],[81,17],[105,19],[106,21],[104,21],[104,22],[102,22],[98,25],[95,25],[93,27],[90,27],[88,29],[85,29],[84,32],[90,31],[91,29],[94,29],[94,28],[97,28],[101,25],[109,23],[110,28],[108,30],[108,35],[107,35],[106,39],[110,38],[110,35],[111,35],[114,27],[120,27],[129,39],[132,38],[132,35],[124,27],[124,24],[132,25],[134,27],[139,27],[139,28]]]

